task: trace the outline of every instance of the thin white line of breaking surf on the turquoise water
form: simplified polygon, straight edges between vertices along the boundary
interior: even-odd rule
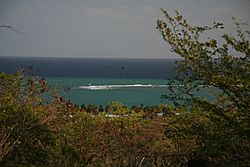
[[[153,84],[133,84],[133,85],[89,85],[89,86],[79,86],[79,89],[88,90],[110,90],[110,89],[120,89],[120,88],[160,88],[167,87],[168,85],[153,85]]]

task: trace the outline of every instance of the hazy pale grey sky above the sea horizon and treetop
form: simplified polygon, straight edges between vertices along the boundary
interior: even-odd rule
[[[250,0],[0,0],[0,56],[173,57],[156,30],[160,8],[204,25],[250,23]]]

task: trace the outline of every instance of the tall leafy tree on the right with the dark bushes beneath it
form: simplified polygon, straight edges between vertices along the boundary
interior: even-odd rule
[[[180,116],[166,122],[165,139],[179,163],[203,158],[217,166],[249,164],[250,131],[250,32],[233,17],[236,36],[207,37],[211,30],[223,30],[222,23],[191,26],[176,11],[157,20],[157,29],[171,51],[181,56],[177,77],[170,82],[169,95]],[[182,84],[182,86],[178,86]],[[214,91],[214,102],[195,96],[200,88]],[[184,108],[189,107],[189,108]],[[186,112],[188,111],[188,112]],[[178,163],[177,163],[178,164]],[[175,165],[177,165],[175,163]]]

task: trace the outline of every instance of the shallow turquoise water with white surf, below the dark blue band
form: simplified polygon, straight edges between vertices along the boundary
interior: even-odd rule
[[[159,105],[161,95],[168,93],[164,79],[109,79],[47,77],[48,83],[78,105],[106,105],[119,101],[125,105]],[[66,90],[66,92],[65,92]],[[208,91],[200,92],[210,97]]]

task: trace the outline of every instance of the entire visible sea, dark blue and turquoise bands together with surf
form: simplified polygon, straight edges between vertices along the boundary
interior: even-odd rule
[[[158,105],[175,76],[174,59],[100,59],[0,57],[0,70],[14,73],[33,67],[34,75],[76,104]],[[69,90],[68,90],[69,89]],[[65,92],[64,90],[67,90]]]

